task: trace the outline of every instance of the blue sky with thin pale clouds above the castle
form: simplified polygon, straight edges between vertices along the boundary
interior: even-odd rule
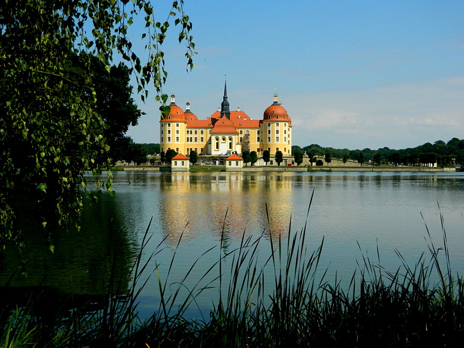
[[[170,3],[157,3],[162,22]],[[464,138],[462,0],[185,0],[184,11],[194,69],[172,25],[163,92],[181,108],[189,101],[199,119],[220,107],[226,75],[230,110],[253,119],[277,90],[293,145],[403,149]],[[145,104],[134,97],[146,113],[127,133],[137,143],[160,141],[160,104],[149,93]]]

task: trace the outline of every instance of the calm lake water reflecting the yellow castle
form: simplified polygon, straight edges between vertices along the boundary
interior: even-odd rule
[[[399,265],[395,250],[413,266],[428,250],[425,224],[435,247],[442,246],[441,212],[453,269],[464,271],[462,173],[117,172],[113,189],[114,198],[102,194],[97,204],[86,206],[80,232],[56,236],[53,255],[46,252],[40,235],[28,236],[28,278],[12,283],[99,293],[109,279],[112,255],[118,255],[118,273],[129,274],[152,216],[149,233],[153,237],[144,255],[160,243],[158,250],[162,250],[148,267],[147,276],[152,276],[140,306],[146,313],[158,305],[157,276],[152,271],[159,265],[164,279],[181,234],[168,283],[181,280],[202,252],[215,247],[201,257],[190,275],[187,284],[195,283],[218,260],[222,233],[223,253],[237,247],[243,233],[252,238],[263,234],[260,255],[264,260],[271,238],[286,240],[289,231],[301,233],[305,223],[309,249],[325,238],[321,268],[329,267],[329,278],[336,271],[342,281],[349,281],[362,254],[376,260],[377,247],[383,267],[394,270]],[[12,259],[7,257],[0,279],[4,283],[15,268]],[[217,294],[217,289],[209,290],[199,306],[210,307]]]

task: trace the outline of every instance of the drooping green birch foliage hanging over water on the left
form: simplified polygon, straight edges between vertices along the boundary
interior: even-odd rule
[[[129,73],[136,73],[142,100],[152,83],[155,99],[166,102],[160,45],[170,23],[156,21],[155,15],[148,0],[19,0],[0,6],[0,242],[12,239],[23,247],[13,208],[17,190],[37,195],[44,226],[55,220],[65,225],[80,213],[77,188],[86,187],[83,172],[109,164],[104,118],[90,78],[92,62],[80,52],[97,56],[107,71],[115,52],[129,62]],[[182,1],[173,2],[171,17],[181,27],[179,41],[187,43],[192,67],[192,24]],[[141,33],[148,50],[144,63],[128,40],[129,28],[140,20],[146,24]],[[87,74],[70,73],[74,59]]]

